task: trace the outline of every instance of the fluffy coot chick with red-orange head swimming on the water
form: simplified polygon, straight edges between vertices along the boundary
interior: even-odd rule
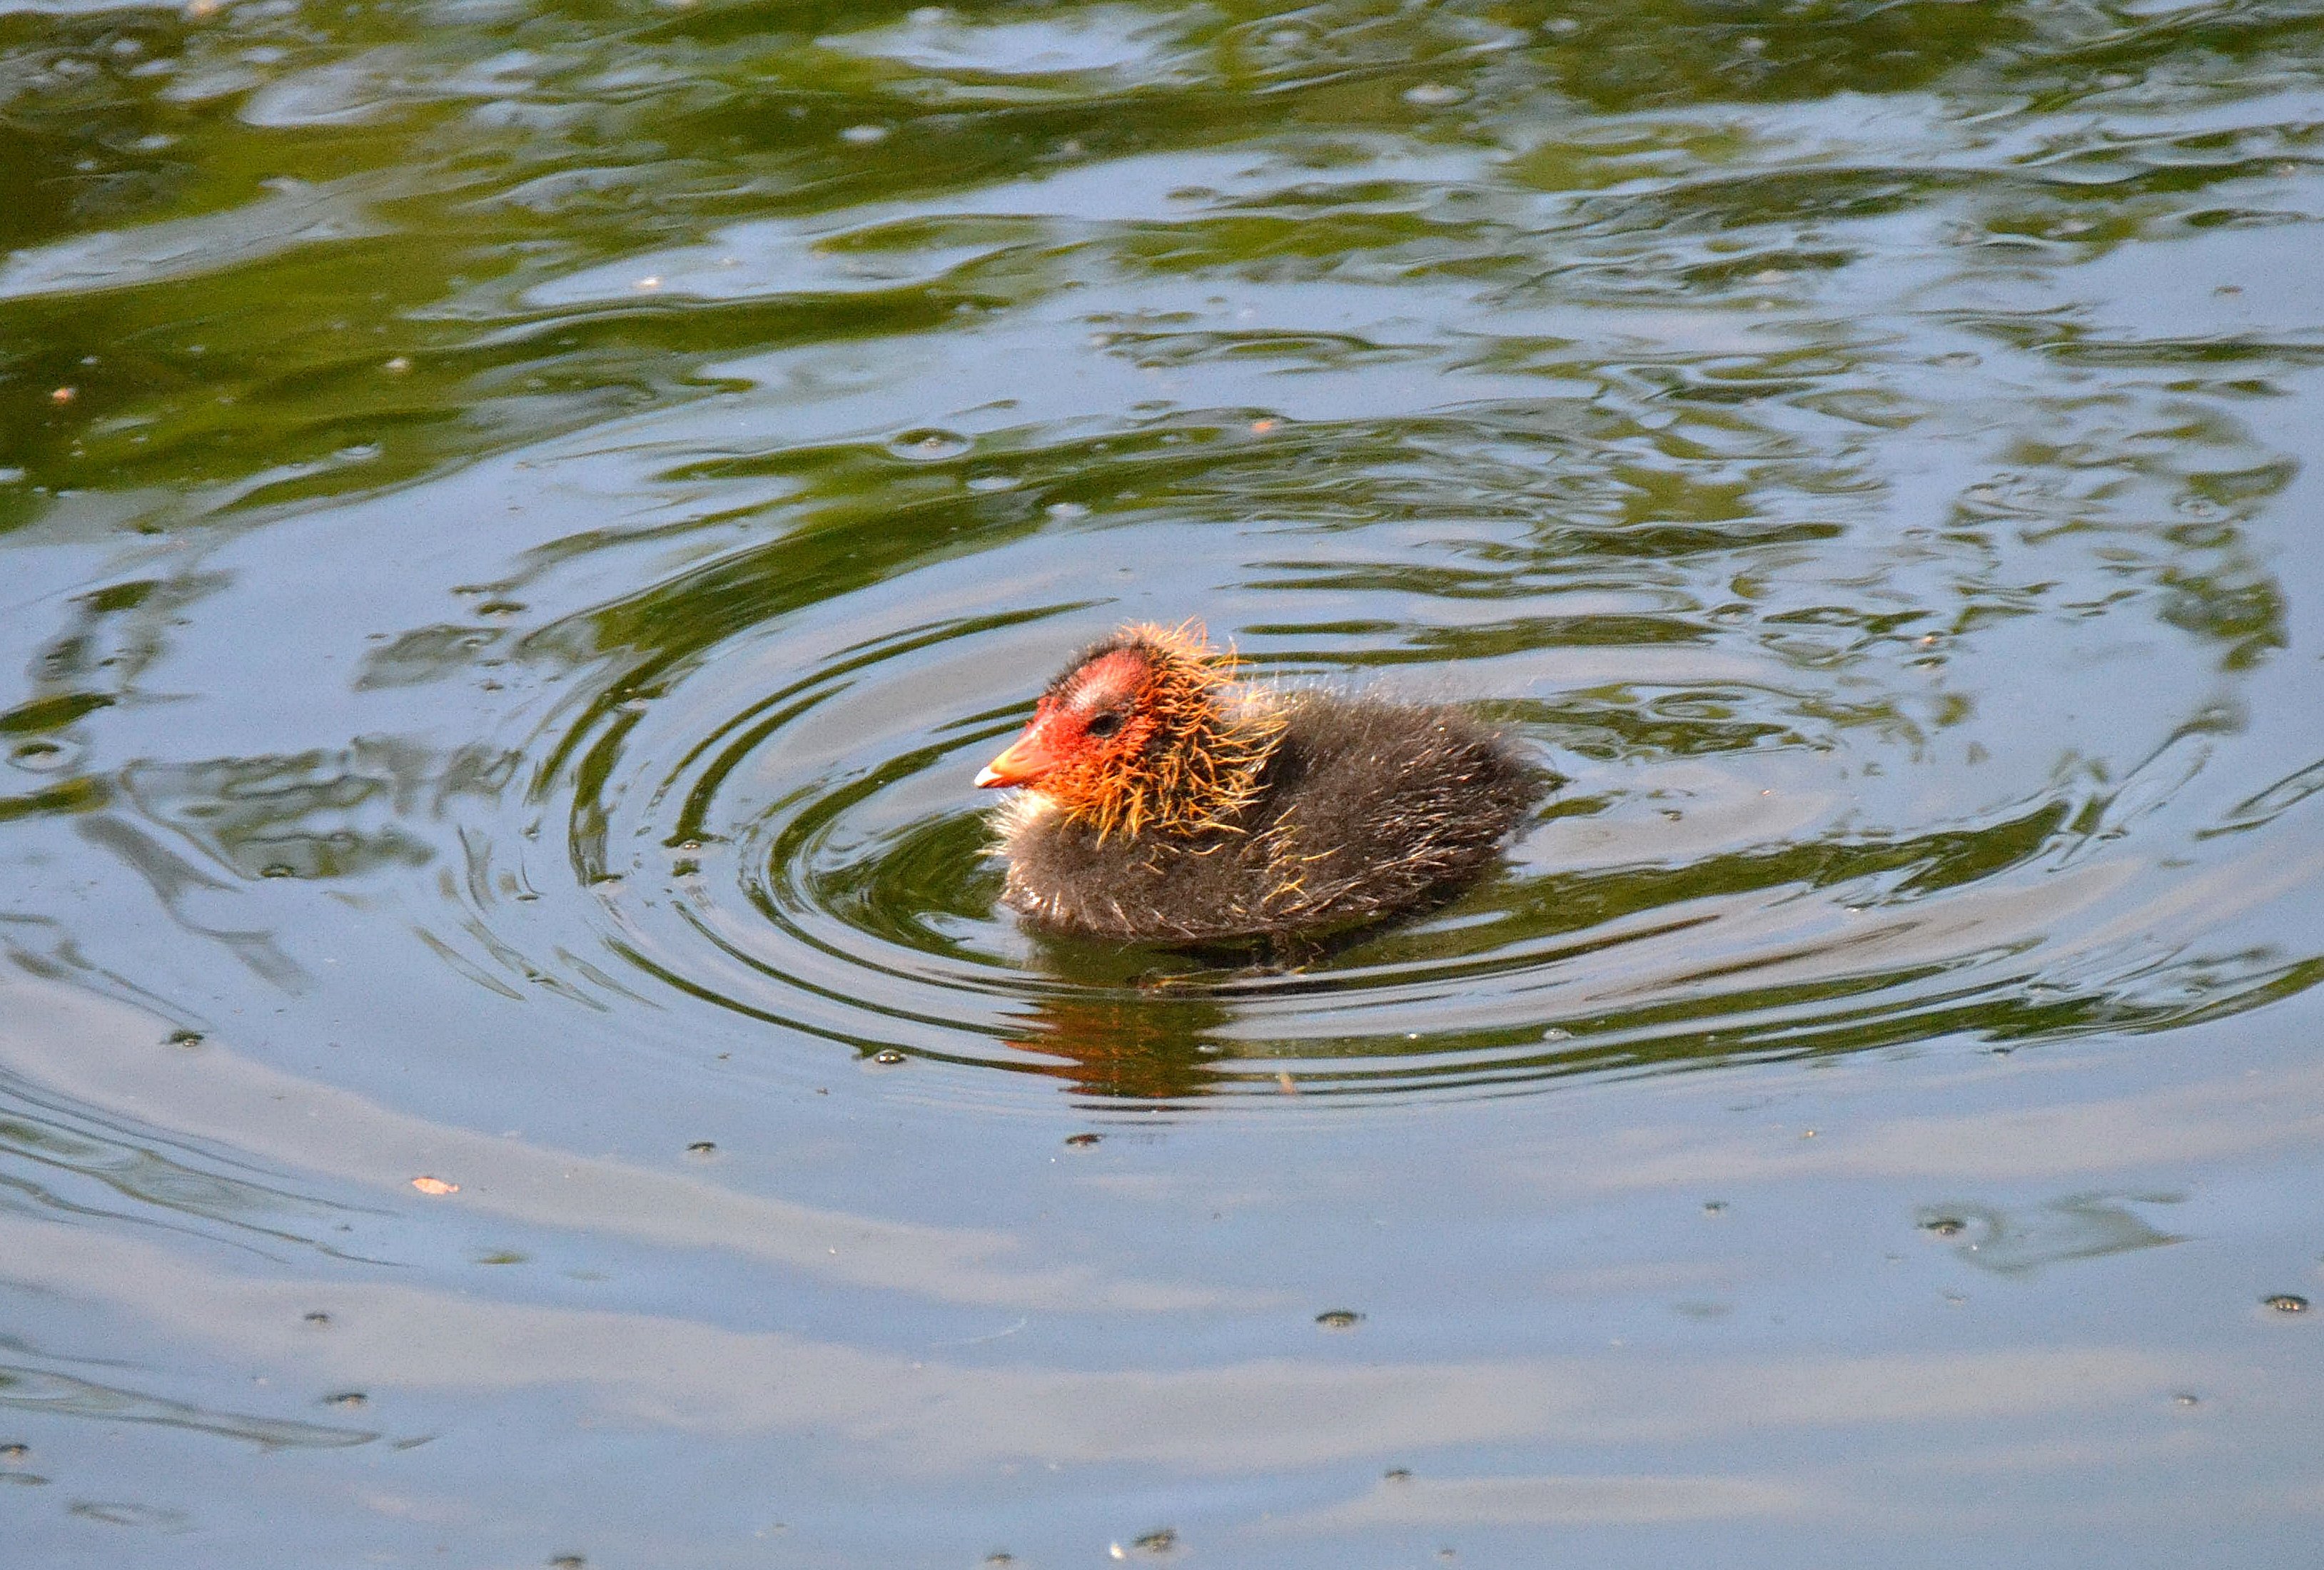
[[[1548,778],[1443,704],[1234,680],[1199,627],[1125,627],[1048,685],[978,785],[1037,927],[1283,941],[1436,903]]]

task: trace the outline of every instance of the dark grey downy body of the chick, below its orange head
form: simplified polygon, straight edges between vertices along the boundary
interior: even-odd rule
[[[1104,938],[1239,941],[1357,927],[1446,899],[1492,864],[1548,776],[1459,708],[1292,692],[1262,790],[1232,829],[1113,834],[1002,813],[1002,899]]]

